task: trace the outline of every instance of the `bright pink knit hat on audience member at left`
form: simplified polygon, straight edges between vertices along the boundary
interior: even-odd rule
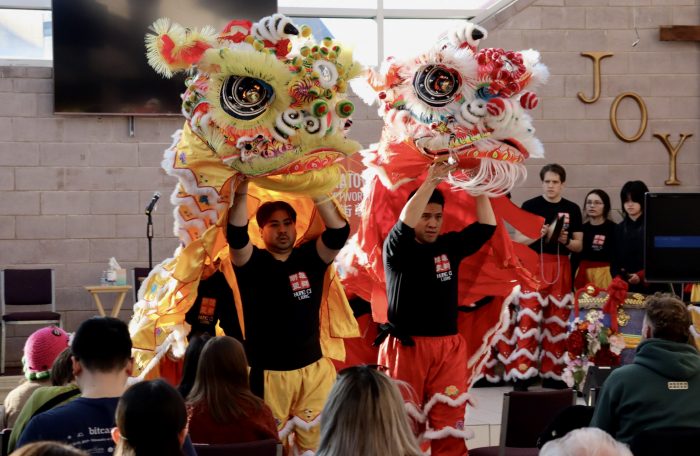
[[[49,378],[56,357],[68,347],[68,333],[56,326],[32,333],[24,344],[24,376],[29,380]]]

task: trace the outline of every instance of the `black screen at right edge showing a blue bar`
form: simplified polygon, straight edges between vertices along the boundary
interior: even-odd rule
[[[644,273],[649,282],[700,282],[700,193],[647,193]]]

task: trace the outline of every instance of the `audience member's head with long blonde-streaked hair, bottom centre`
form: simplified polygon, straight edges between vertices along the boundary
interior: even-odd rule
[[[394,382],[369,366],[340,371],[321,412],[317,456],[421,455]]]

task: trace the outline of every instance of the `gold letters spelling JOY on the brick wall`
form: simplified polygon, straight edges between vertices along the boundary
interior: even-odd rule
[[[601,66],[601,61],[607,57],[612,57],[613,54],[611,52],[582,52],[581,55],[593,60],[593,96],[588,98],[588,97],[586,97],[586,95],[583,92],[579,92],[577,94],[577,96],[578,96],[578,99],[584,103],[595,103],[600,98],[600,88],[601,88],[600,66]],[[633,136],[625,136],[617,124],[617,108],[620,105],[620,102],[622,100],[624,100],[625,98],[633,99],[637,103],[637,106],[639,107],[639,111],[641,114],[639,129],[637,130],[637,132]],[[615,135],[618,138],[620,138],[622,141],[625,141],[625,142],[638,141],[639,138],[642,137],[642,135],[644,134],[644,132],[647,129],[647,120],[648,120],[647,106],[644,103],[644,99],[642,97],[640,97],[639,94],[636,94],[634,92],[623,92],[623,93],[619,94],[618,96],[616,96],[612,102],[612,105],[610,105],[610,126],[612,127]],[[691,133],[681,133],[680,140],[678,141],[678,143],[676,145],[671,144],[671,140],[669,139],[671,135],[669,133],[654,133],[652,136],[654,136],[659,141],[661,141],[661,144],[663,144],[663,146],[666,148],[666,152],[668,152],[669,176],[668,176],[668,179],[664,181],[664,183],[666,185],[680,185],[681,181],[678,180],[678,177],[676,174],[676,159],[678,158],[678,153],[680,152],[681,147],[683,147],[683,143],[685,143],[685,140],[690,138],[693,135]]]

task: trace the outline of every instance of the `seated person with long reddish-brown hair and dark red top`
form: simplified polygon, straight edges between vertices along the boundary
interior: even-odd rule
[[[233,337],[214,337],[204,346],[187,408],[194,443],[278,438],[270,407],[250,391],[245,351]]]

